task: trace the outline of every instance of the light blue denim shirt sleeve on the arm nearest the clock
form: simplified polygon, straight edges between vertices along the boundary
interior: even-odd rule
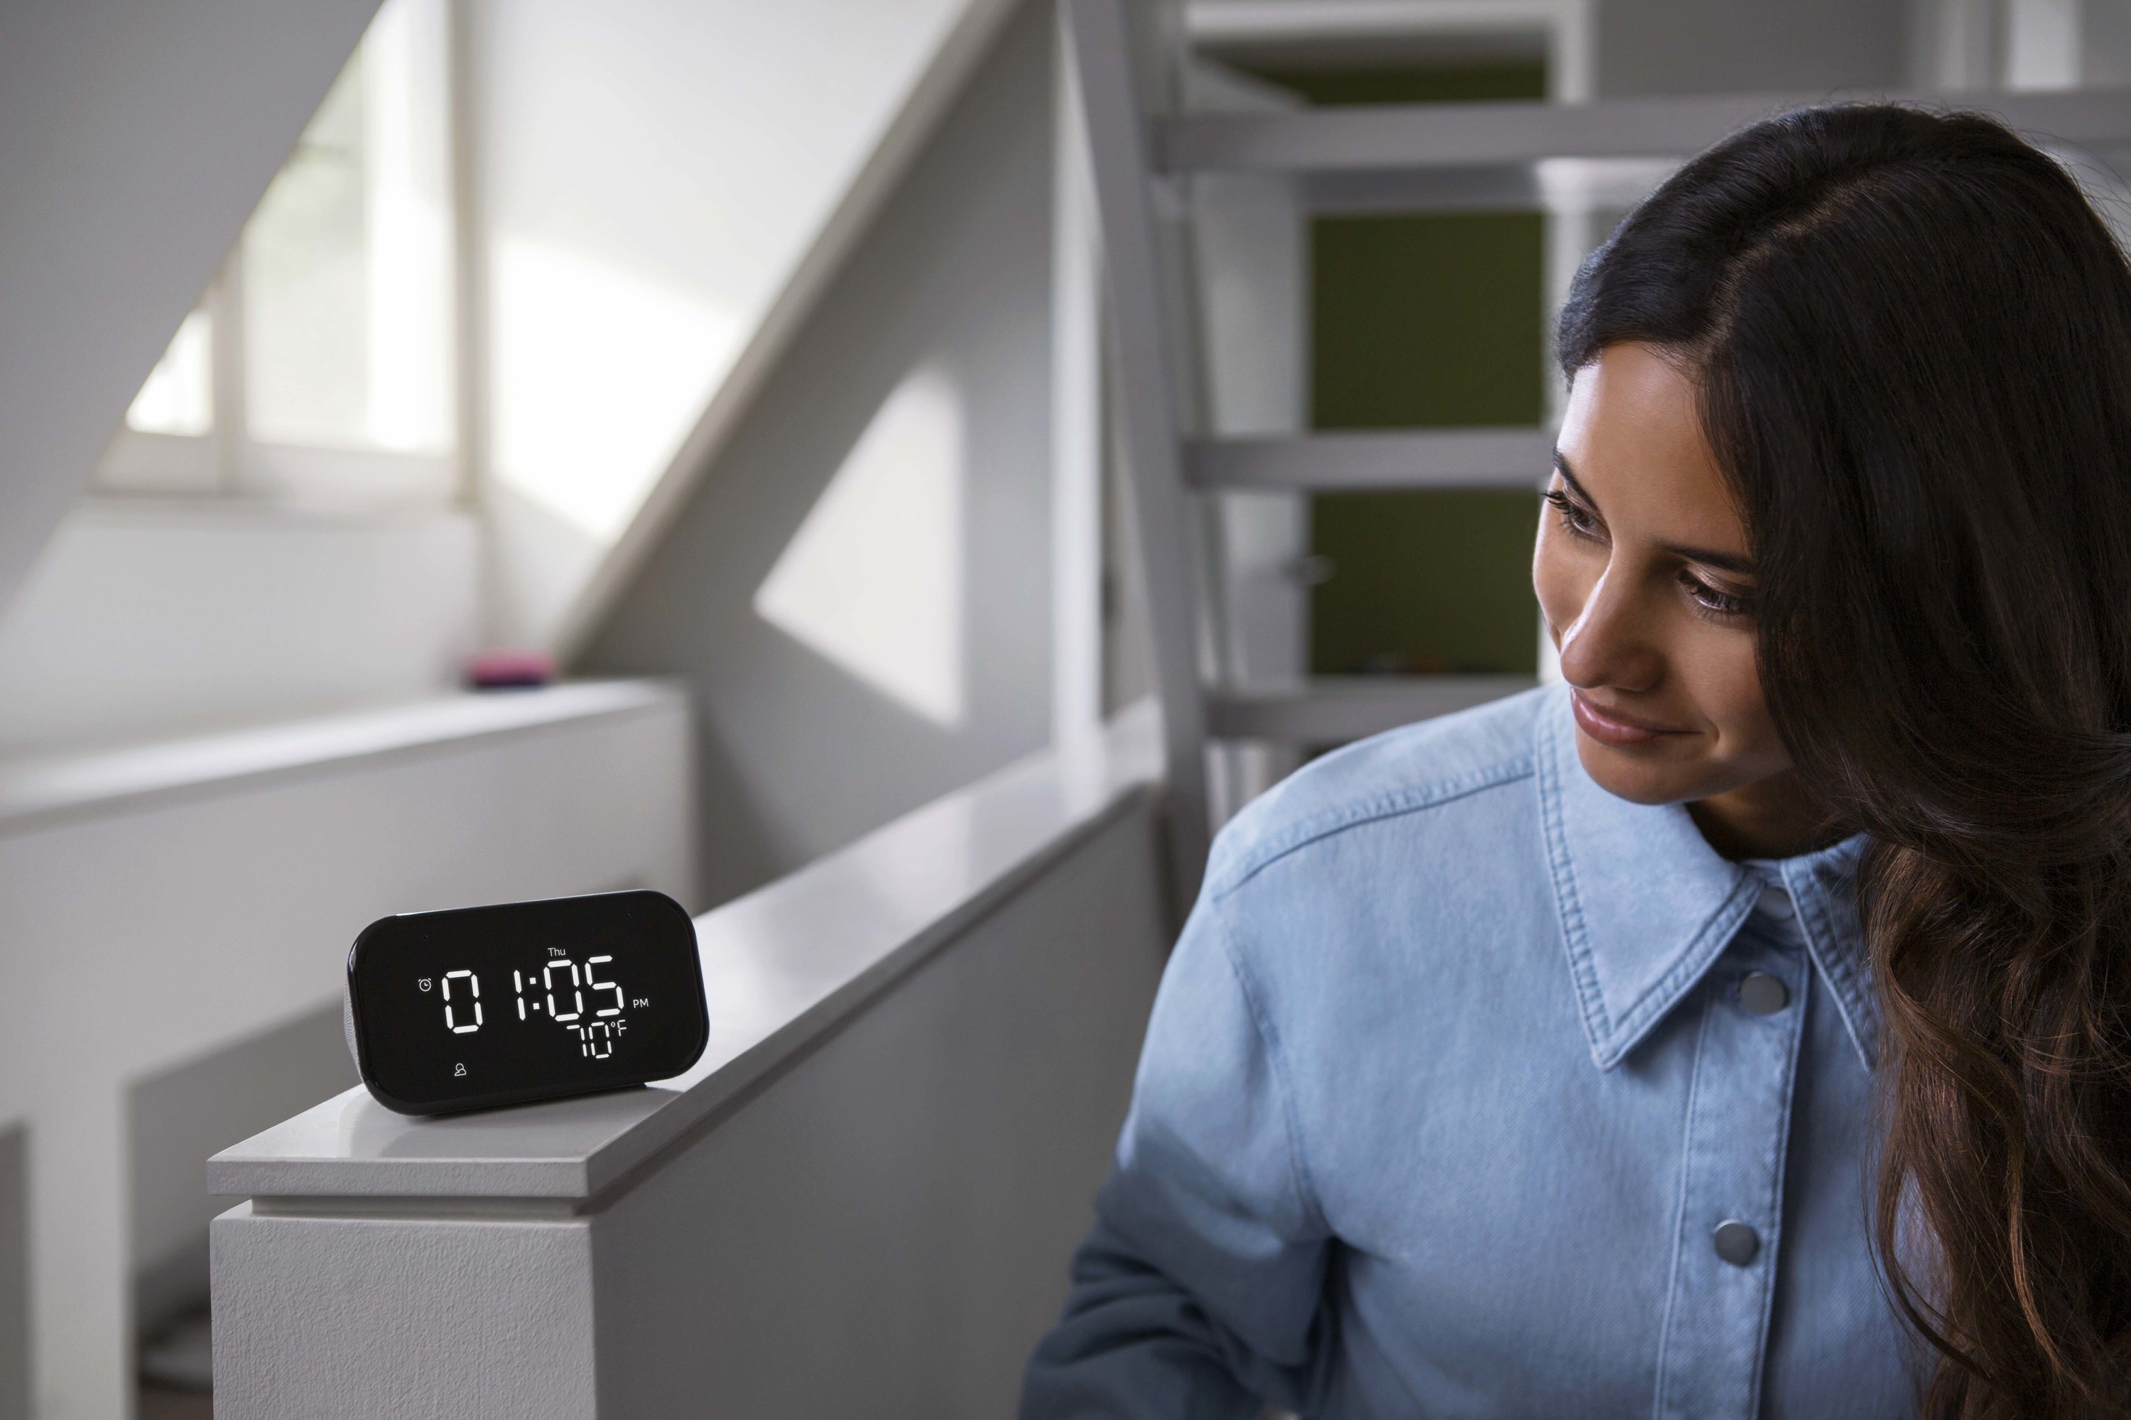
[[[1255,1420],[1308,1409],[1328,1228],[1227,905],[1202,898],[1161,977],[1132,1111],[1021,1420]]]

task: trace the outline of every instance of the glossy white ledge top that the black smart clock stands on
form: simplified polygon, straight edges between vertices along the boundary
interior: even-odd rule
[[[437,1120],[356,1088],[215,1154],[209,1192],[335,1211],[362,1199],[592,1199],[1125,811],[1157,775],[1157,743],[1140,707],[1083,754],[1031,756],[697,918],[710,1047],[686,1075]]]

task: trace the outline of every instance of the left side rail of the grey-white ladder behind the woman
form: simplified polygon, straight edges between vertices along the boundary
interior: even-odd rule
[[[1161,255],[1151,200],[1146,119],[1132,81],[1119,0],[1066,0],[1066,72],[1078,98],[1102,228],[1110,356],[1146,615],[1161,696],[1176,896],[1198,896],[1210,845],[1206,692],[1198,673],[1193,534],[1176,430],[1176,383],[1161,330]]]

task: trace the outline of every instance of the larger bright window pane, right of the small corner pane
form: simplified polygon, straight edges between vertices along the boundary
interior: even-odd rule
[[[443,81],[441,4],[388,0],[245,228],[254,439],[450,447]]]

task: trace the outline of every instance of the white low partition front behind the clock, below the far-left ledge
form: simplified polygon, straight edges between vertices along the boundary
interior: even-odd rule
[[[0,1033],[0,1120],[28,1122],[38,1416],[130,1414],[134,1271],[183,1241],[183,1199],[128,1196],[173,1177],[126,1158],[136,1086],[328,1007],[354,935],[392,911],[627,884],[693,907],[688,754],[665,694],[0,822],[0,975],[26,1003]]]

